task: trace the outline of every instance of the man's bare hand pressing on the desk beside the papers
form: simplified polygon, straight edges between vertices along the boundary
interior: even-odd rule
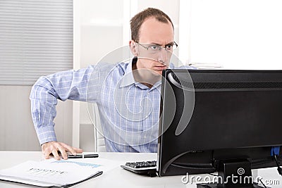
[[[41,149],[46,159],[50,158],[50,155],[53,154],[56,160],[61,159],[58,152],[61,153],[63,159],[68,159],[68,154],[66,152],[70,152],[74,156],[76,155],[76,153],[82,153],[82,149],[75,148],[73,146],[68,146],[68,144],[65,144],[63,142],[55,141],[46,142],[42,144]]]

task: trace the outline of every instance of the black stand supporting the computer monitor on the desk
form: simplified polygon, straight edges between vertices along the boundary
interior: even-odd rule
[[[197,184],[197,188],[261,188],[252,181],[251,162],[247,158],[220,160],[216,164],[217,183]]]

